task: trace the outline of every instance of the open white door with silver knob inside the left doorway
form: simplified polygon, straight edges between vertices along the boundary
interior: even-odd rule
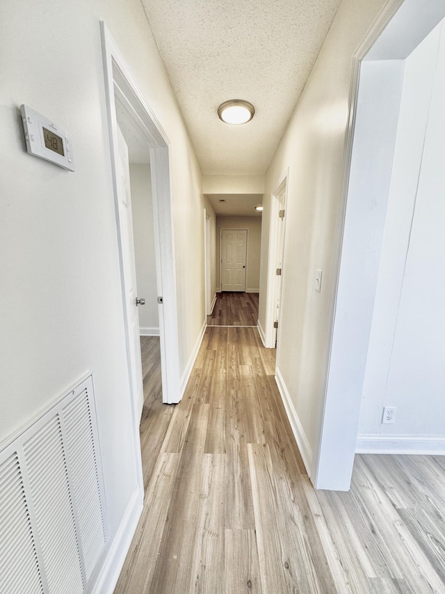
[[[124,271],[125,312],[129,332],[129,364],[133,398],[139,414],[144,404],[142,364],[140,356],[139,315],[136,306],[136,266],[134,259],[133,219],[131,217],[131,188],[128,147],[118,127],[118,198],[120,212],[120,233],[122,238],[122,259]],[[140,418],[140,417],[139,417]]]

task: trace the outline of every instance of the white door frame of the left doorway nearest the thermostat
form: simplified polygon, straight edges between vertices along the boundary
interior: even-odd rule
[[[159,304],[159,334],[161,343],[161,373],[163,402],[175,403],[181,399],[179,375],[179,342],[177,332],[177,292],[175,274],[175,250],[172,221],[172,198],[170,192],[170,141],[151,107],[136,84],[131,70],[111,37],[106,24],[100,22],[102,57],[104,64],[106,111],[111,153],[111,173],[115,201],[116,230],[118,235],[121,291],[124,296],[124,253],[120,236],[120,214],[118,210],[117,184],[117,119],[115,95],[124,104],[128,114],[147,142],[152,171],[152,202],[154,219],[154,244],[156,256],[156,284],[158,295],[163,297]],[[129,322],[124,308],[124,334],[129,361]],[[131,367],[129,366],[129,375]],[[131,393],[131,388],[130,388]],[[138,416],[136,402],[131,393],[133,422],[140,456]]]

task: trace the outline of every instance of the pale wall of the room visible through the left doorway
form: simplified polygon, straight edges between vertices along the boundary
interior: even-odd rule
[[[130,185],[138,297],[145,298],[145,305],[138,308],[140,334],[156,336],[159,334],[159,314],[149,164],[130,164]]]

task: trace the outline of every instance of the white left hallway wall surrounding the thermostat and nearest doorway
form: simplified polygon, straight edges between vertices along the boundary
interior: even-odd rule
[[[115,538],[136,490],[136,459],[99,19],[170,139],[181,370],[205,320],[201,172],[142,5],[3,0],[0,440],[92,370]],[[74,173],[26,153],[22,103],[70,133]]]

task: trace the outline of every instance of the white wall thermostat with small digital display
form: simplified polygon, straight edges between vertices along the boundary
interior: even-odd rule
[[[72,146],[67,133],[31,107],[21,105],[20,111],[28,153],[51,161],[63,169],[74,171]]]

